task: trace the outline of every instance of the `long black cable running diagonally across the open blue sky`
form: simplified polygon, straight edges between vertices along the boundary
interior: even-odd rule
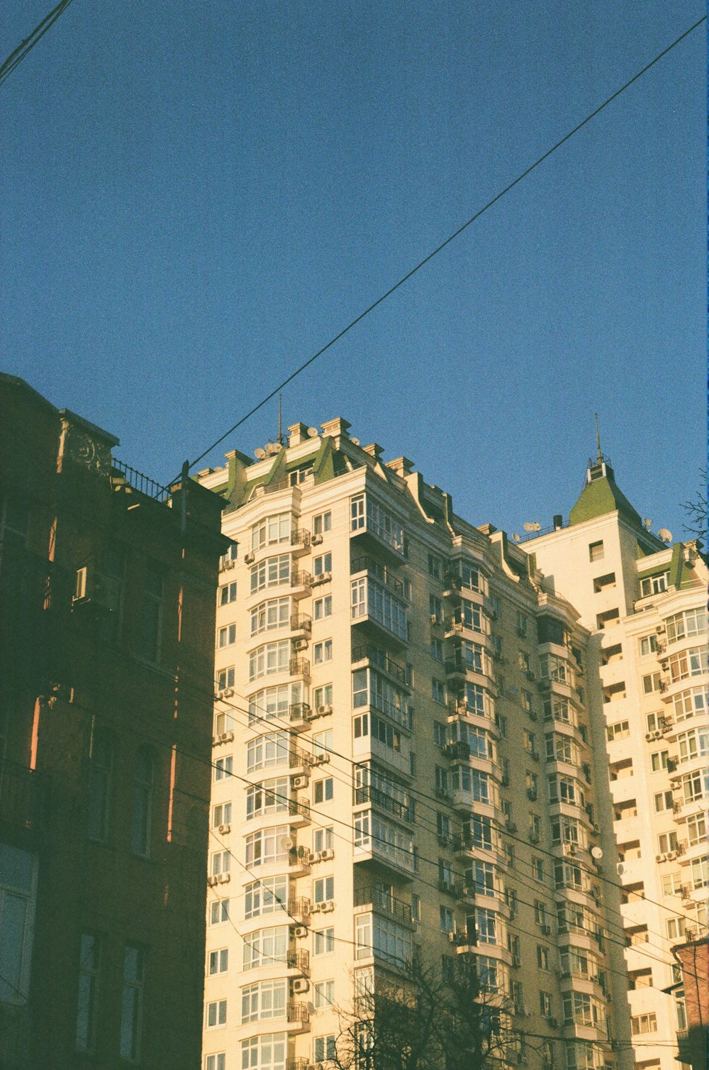
[[[445,241],[441,242],[441,244],[437,245],[426,257],[423,257],[422,260],[419,260],[419,262],[414,268],[407,271],[405,275],[402,275],[402,277],[397,282],[395,282],[394,286],[389,287],[389,289],[386,290],[380,297],[377,297],[376,301],[372,302],[372,304],[368,305],[368,307],[365,308],[364,311],[359,312],[358,316],[356,316],[353,320],[351,320],[345,327],[343,327],[341,331],[338,332],[338,334],[336,334],[333,338],[330,338],[330,340],[326,342],[321,349],[319,349],[317,353],[313,353],[312,356],[310,356],[307,361],[305,361],[298,368],[295,369],[295,371],[293,371],[290,376],[288,376],[287,379],[284,379],[281,383],[279,383],[278,386],[275,386],[273,391],[271,391],[269,394],[267,394],[261,401],[259,401],[258,404],[253,406],[253,408],[250,409],[245,416],[242,416],[241,419],[236,421],[236,423],[232,427],[230,427],[228,431],[225,431],[225,433],[221,434],[216,440],[216,442],[213,442],[211,446],[209,446],[199,455],[199,457],[196,457],[194,461],[190,461],[189,469],[198,464],[199,461],[201,461],[204,457],[206,457],[206,455],[210,454],[216,446],[218,446],[220,442],[224,442],[226,438],[232,434],[237,427],[241,427],[242,424],[245,424],[247,419],[249,419],[255,413],[259,411],[259,409],[262,409],[263,406],[266,404],[266,402],[271,401],[271,399],[274,398],[279,393],[279,391],[282,391],[284,386],[288,386],[288,384],[291,383],[297,376],[299,376],[302,371],[305,371],[305,369],[308,368],[311,364],[313,364],[313,362],[317,361],[318,357],[322,356],[323,353],[327,352],[327,350],[330,349],[337,341],[339,341],[340,338],[343,338],[344,335],[348,334],[348,332],[352,331],[352,328],[356,326],[357,323],[364,320],[366,316],[369,316],[370,312],[373,312],[374,309],[379,307],[379,305],[381,305],[384,301],[386,301],[387,297],[390,297],[392,293],[395,293],[400,287],[404,285],[404,282],[407,282],[413,275],[419,272],[421,268],[425,268],[426,264],[429,263],[429,261],[433,260],[434,257],[436,257],[440,253],[442,253],[443,249],[446,248],[446,246],[450,245],[450,243],[454,241],[456,238],[462,234],[464,230],[466,230],[473,223],[476,221],[476,219],[479,219],[481,215],[483,215],[489,209],[493,207],[493,204],[496,204],[498,200],[500,200],[506,194],[510,192],[510,189],[513,189],[514,186],[517,186],[520,182],[522,182],[523,179],[526,179],[528,174],[531,174],[531,172],[537,167],[539,167],[540,164],[542,164],[545,159],[548,159],[552,155],[552,153],[556,152],[557,149],[560,149],[562,144],[565,144],[570,138],[572,138],[574,134],[577,134],[580,129],[582,129],[587,123],[591,121],[591,119],[595,119],[596,116],[600,114],[600,112],[603,111],[604,108],[607,108],[608,104],[611,104],[618,96],[620,96],[621,93],[625,93],[627,89],[629,89],[634,82],[636,82],[638,78],[642,78],[644,74],[646,74],[652,66],[654,66],[656,63],[658,63],[661,59],[663,59],[663,57],[665,57],[669,51],[672,51],[673,48],[676,48],[677,45],[679,45],[680,42],[684,40],[684,37],[688,37],[690,33],[693,33],[694,30],[697,29],[697,27],[702,26],[702,24],[705,22],[707,16],[704,15],[700,19],[698,19],[698,21],[696,21],[693,26],[691,26],[689,30],[685,30],[683,33],[679,35],[679,37],[673,41],[671,45],[667,45],[666,48],[663,48],[663,50],[659,52],[654,57],[654,59],[650,60],[650,62],[647,63],[641,71],[638,71],[637,74],[634,74],[633,77],[629,79],[629,81],[625,82],[625,85],[620,87],[620,89],[617,89],[615,93],[612,93],[611,96],[606,97],[606,100],[603,101],[602,104],[600,104],[594,111],[591,111],[588,116],[586,116],[585,119],[583,119],[580,123],[577,123],[576,126],[573,127],[573,129],[569,131],[568,134],[565,134],[565,136],[560,138],[555,144],[553,144],[551,149],[548,149],[546,152],[544,152],[541,156],[539,156],[534,162],[534,164],[531,164],[524,171],[518,174],[517,178],[513,179],[510,183],[508,183],[508,185],[506,185],[503,189],[500,189],[499,193],[495,194],[495,196],[491,200],[489,200],[487,204],[483,204],[483,207],[479,209],[474,215],[472,215],[469,219],[467,219],[457,230],[454,230],[452,234],[449,234],[448,238],[445,239]]]

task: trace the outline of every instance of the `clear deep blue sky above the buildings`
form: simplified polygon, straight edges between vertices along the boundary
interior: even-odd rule
[[[9,54],[48,10],[3,15]],[[704,14],[75,0],[0,87],[3,370],[167,480]],[[705,442],[705,28],[283,395],[475,523],[595,447],[681,535]],[[276,430],[275,402],[200,467]]]

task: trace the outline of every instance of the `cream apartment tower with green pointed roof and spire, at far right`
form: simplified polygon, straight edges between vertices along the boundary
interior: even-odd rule
[[[590,632],[588,712],[601,845],[617,858],[635,1065],[677,1066],[687,1029],[673,946],[707,934],[707,568],[651,535],[610,463],[589,461],[569,523],[526,541]]]

